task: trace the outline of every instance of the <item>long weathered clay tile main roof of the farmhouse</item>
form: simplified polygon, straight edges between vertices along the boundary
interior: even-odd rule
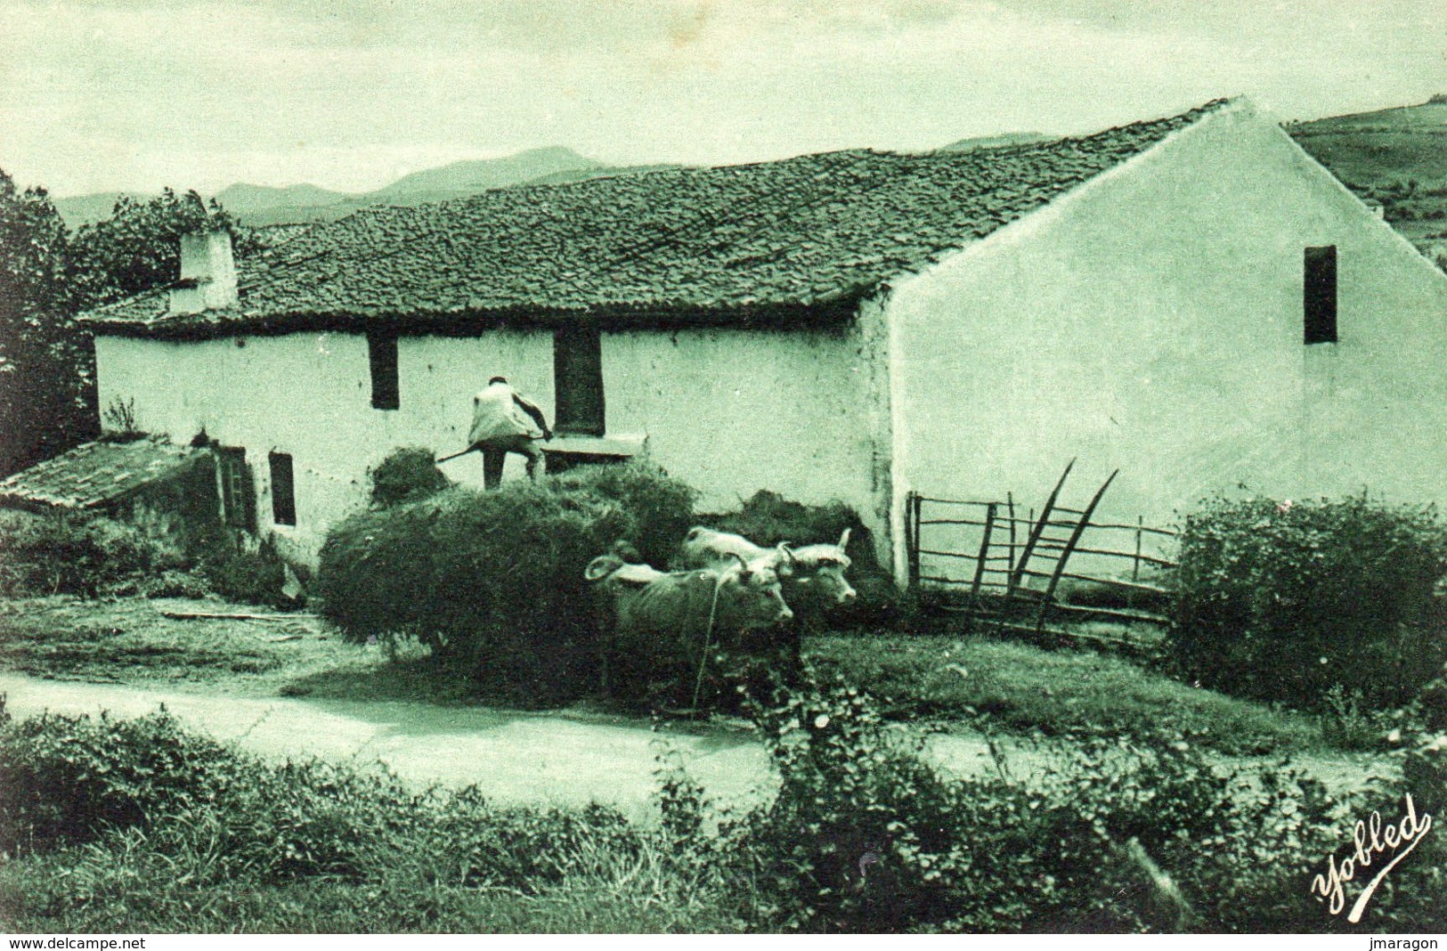
[[[242,262],[234,307],[166,317],[166,295],[149,292],[85,318],[162,336],[579,316],[797,320],[928,266],[1226,101],[1051,142],[828,152],[365,208]]]

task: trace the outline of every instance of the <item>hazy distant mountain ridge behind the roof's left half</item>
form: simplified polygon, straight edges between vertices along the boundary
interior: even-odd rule
[[[615,168],[560,146],[530,149],[495,159],[453,162],[404,175],[389,185],[362,194],[330,191],[317,185],[236,184],[217,194],[221,206],[252,227],[333,221],[372,204],[424,204],[464,198],[491,188],[532,182],[559,184],[599,175],[628,175],[655,166]],[[100,193],[55,198],[55,207],[71,227],[109,219],[122,193]],[[145,201],[150,195],[133,194]]]

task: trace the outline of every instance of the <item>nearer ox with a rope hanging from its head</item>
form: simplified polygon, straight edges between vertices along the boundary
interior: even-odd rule
[[[650,673],[679,688],[676,696],[693,693],[715,646],[744,654],[767,650],[773,641],[767,630],[794,617],[778,572],[742,557],[702,570],[660,572],[603,554],[583,578],[599,595],[605,693],[619,688],[644,693]]]

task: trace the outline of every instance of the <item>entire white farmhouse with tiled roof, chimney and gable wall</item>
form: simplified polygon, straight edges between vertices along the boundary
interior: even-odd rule
[[[298,557],[394,447],[463,449],[495,373],[550,463],[842,499],[896,572],[907,492],[1043,496],[1071,457],[1132,520],[1242,485],[1447,501],[1447,278],[1243,100],[369,208],[239,274],[224,237],[184,252],[88,314],[101,405],[204,431]]]

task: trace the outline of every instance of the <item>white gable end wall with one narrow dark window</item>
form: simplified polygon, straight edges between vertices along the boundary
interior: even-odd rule
[[[1307,347],[1312,245],[1338,249],[1340,343]],[[896,525],[910,489],[1039,505],[1075,456],[1064,504],[1119,468],[1103,517],[1147,524],[1242,483],[1447,501],[1447,279],[1249,106],[899,282],[886,311]]]

